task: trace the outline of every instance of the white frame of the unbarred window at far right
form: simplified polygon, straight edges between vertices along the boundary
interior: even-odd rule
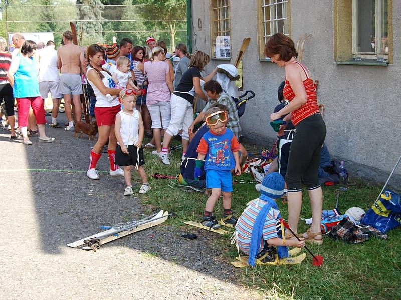
[[[377,41],[381,40],[381,8],[382,1],[375,0],[374,3],[374,37]],[[357,47],[357,36],[358,32],[358,10],[357,10],[357,0],[352,0],[352,57],[355,58],[355,52]],[[362,59],[377,59],[377,53],[375,52],[361,52],[359,53]],[[388,52],[384,55],[384,60],[388,60]]]

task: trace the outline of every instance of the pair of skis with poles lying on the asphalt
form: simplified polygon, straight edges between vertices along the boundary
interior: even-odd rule
[[[160,210],[158,213],[149,215],[141,220],[133,221],[121,226],[100,226],[100,228],[108,230],[69,243],[67,246],[71,248],[83,246],[82,249],[93,250],[96,252],[96,250],[105,243],[159,225],[165,222],[170,215],[171,214],[169,214],[168,211]]]

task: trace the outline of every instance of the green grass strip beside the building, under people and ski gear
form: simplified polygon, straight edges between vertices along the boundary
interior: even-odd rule
[[[176,142],[175,142],[176,143]],[[197,220],[205,209],[206,196],[197,192],[184,192],[170,188],[168,180],[151,178],[155,172],[176,175],[179,171],[181,150],[173,151],[172,163],[164,166],[161,161],[145,150],[145,169],[152,190],[141,197],[143,204],[174,210],[177,217],[168,221],[168,226],[183,226],[187,220]],[[137,175],[135,175],[137,179]],[[249,174],[239,178],[251,181]],[[323,209],[333,209],[336,202],[334,190],[337,187],[323,188]],[[359,206],[365,211],[370,208],[380,186],[356,181],[346,192],[340,194],[339,209],[345,212],[349,207]],[[235,184],[232,207],[237,216],[246,203],[258,197],[254,184]],[[288,216],[286,204],[278,203],[284,217]],[[215,207],[215,214],[222,215],[222,203]],[[311,217],[307,193],[301,211],[302,218]],[[189,229],[189,228],[188,228]],[[299,232],[307,225],[300,220]],[[213,233],[211,233],[213,234]],[[227,262],[234,261],[237,250],[230,244],[229,237],[213,235],[211,246],[222,251]],[[261,290],[267,298],[277,299],[400,299],[401,296],[401,230],[388,233],[387,240],[370,238],[362,244],[347,244],[342,240],[324,238],[322,246],[310,245],[312,252],[324,257],[322,267],[312,266],[307,258],[293,266],[257,266],[244,268],[237,272],[240,280]],[[305,251],[306,252],[306,251]],[[233,270],[234,271],[234,270]]]

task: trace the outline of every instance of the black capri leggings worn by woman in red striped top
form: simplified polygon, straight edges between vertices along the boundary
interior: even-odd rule
[[[285,176],[288,192],[301,191],[301,181],[308,190],[319,188],[317,171],[326,124],[320,113],[316,113],[300,121],[295,128],[297,132],[291,143]]]

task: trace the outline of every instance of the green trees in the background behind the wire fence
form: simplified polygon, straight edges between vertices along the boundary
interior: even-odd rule
[[[11,4],[7,6],[7,20],[23,21],[8,22],[8,32],[54,32],[56,43],[61,42],[63,31],[70,30],[69,21],[72,20],[94,20],[77,22],[78,41],[81,45],[98,41],[111,44],[113,36],[117,42],[130,37],[134,45],[145,45],[146,38],[152,35],[157,41],[164,40],[169,50],[173,50],[179,42],[186,42],[186,22],[168,21],[186,19],[185,0],[75,1],[76,4],[91,5],[75,6],[71,0],[0,1],[0,12],[3,15],[0,35],[6,37],[6,2]]]

